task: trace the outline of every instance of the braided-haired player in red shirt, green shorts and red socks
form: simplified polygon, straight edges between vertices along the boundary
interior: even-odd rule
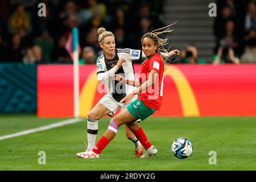
[[[126,97],[120,101],[121,103],[124,102],[127,104],[135,94],[138,94],[138,98],[111,119],[108,130],[106,130],[104,135],[98,140],[92,151],[86,151],[84,154],[80,155],[82,158],[99,158],[102,150],[104,150],[108,143],[115,137],[118,128],[123,124],[133,131],[145,148],[146,151],[141,158],[147,158],[157,154],[158,151],[152,146],[144,134],[142,127],[139,126],[136,121],[138,119],[146,119],[155,113],[156,110],[159,110],[162,105],[165,63],[163,57],[160,55],[160,51],[167,53],[164,45],[167,44],[168,39],[160,39],[158,35],[172,31],[167,27],[159,28],[158,30],[148,32],[142,36],[142,50],[147,59],[142,64],[138,81],[126,80],[120,75],[113,76],[113,79],[117,81],[138,87],[130,94],[127,94]],[[175,53],[179,55],[180,51],[171,51],[169,55]]]

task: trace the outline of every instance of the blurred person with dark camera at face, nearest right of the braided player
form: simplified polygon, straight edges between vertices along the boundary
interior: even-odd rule
[[[198,57],[198,51],[195,46],[188,46],[186,49],[181,51],[181,63],[188,64],[205,64],[207,61]]]

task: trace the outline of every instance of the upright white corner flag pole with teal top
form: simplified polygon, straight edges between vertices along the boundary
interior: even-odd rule
[[[73,28],[74,117],[79,117],[79,31]]]

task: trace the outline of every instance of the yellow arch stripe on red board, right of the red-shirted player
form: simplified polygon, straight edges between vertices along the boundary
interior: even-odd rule
[[[165,76],[170,76],[177,87],[177,92],[180,96],[180,102],[185,117],[200,116],[199,107],[197,105],[196,97],[193,93],[191,85],[183,73],[176,67],[169,65]]]

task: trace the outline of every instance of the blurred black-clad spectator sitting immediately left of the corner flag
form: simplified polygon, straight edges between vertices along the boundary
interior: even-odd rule
[[[55,63],[72,63],[71,57],[65,49],[67,37],[65,35],[60,36],[57,40],[57,44],[52,49],[51,58]]]

